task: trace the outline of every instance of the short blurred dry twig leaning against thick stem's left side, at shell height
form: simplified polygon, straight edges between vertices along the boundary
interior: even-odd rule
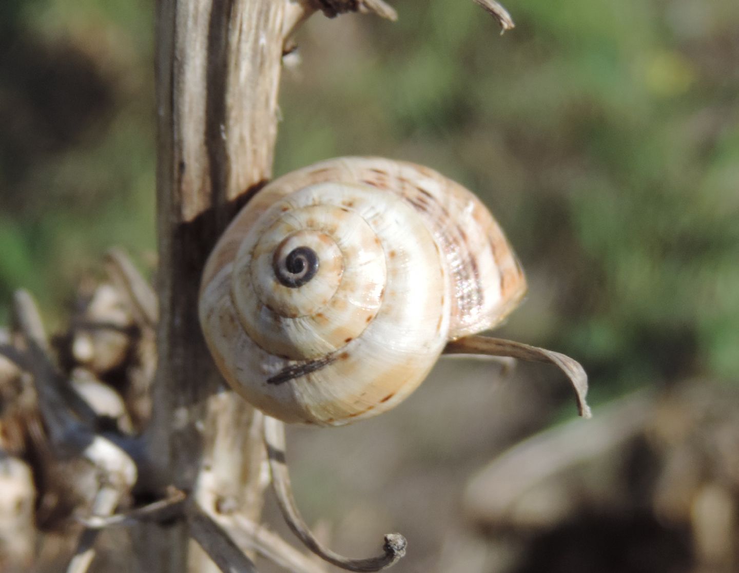
[[[112,248],[105,257],[106,270],[118,291],[126,296],[138,325],[157,328],[159,310],[157,294],[144,279],[129,256],[120,248]]]

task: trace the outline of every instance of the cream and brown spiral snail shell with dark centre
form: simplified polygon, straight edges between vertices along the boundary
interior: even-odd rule
[[[446,342],[494,327],[525,290],[470,191],[412,163],[342,157],[242,208],[205,265],[200,321],[255,407],[341,425],[399,404]]]

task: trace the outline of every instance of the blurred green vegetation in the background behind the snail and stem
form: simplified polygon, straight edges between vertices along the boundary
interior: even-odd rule
[[[276,173],[336,155],[477,191],[531,282],[508,336],[608,395],[739,372],[739,3],[467,0],[316,16],[285,72]],[[153,3],[3,0],[0,319],[58,309],[101,254],[154,251]]]

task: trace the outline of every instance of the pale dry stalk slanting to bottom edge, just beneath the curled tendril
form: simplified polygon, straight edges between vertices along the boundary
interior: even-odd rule
[[[203,509],[205,511],[205,509]],[[325,573],[324,567],[303,555],[279,535],[237,513],[226,514],[207,511],[208,516],[218,523],[239,549],[258,555],[276,563],[292,573]]]

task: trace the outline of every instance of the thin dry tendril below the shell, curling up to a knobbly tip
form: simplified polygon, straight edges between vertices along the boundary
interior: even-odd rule
[[[322,546],[308,529],[293,497],[290,475],[285,464],[285,426],[269,416],[265,416],[265,444],[279,508],[287,525],[310,551],[332,565],[356,572],[381,571],[395,565],[406,554],[406,540],[399,533],[385,535],[384,555],[369,559],[347,559]]]

